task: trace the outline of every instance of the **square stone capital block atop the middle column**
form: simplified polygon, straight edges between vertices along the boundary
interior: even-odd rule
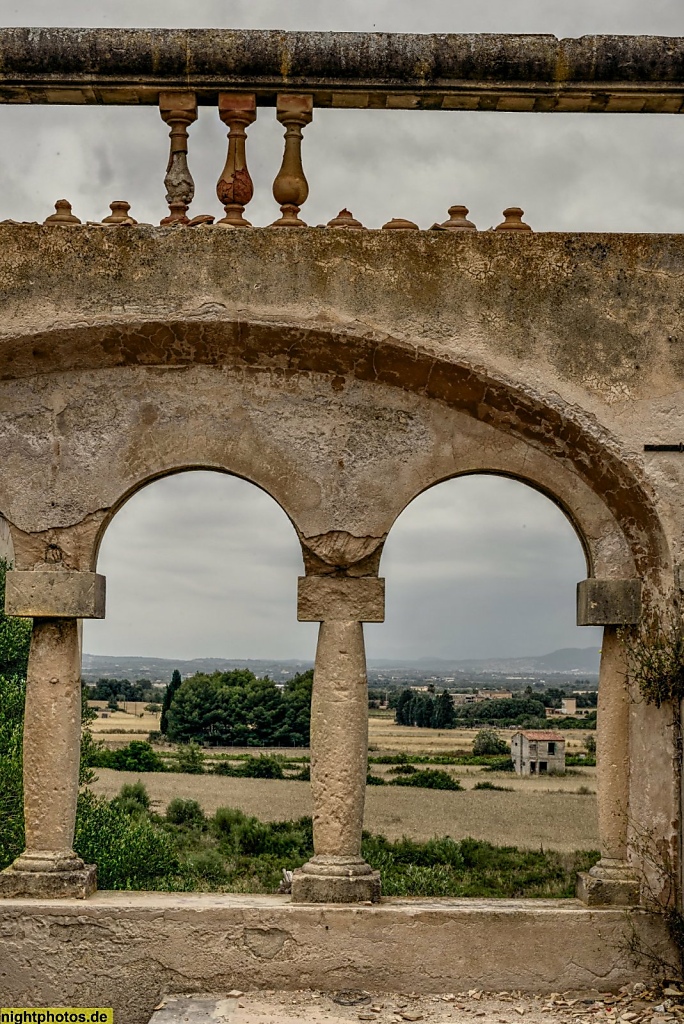
[[[300,577],[300,623],[385,621],[385,581],[377,577]]]

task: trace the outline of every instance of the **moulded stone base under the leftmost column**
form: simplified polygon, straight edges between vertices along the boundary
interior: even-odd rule
[[[0,898],[87,899],[97,889],[97,869],[74,853],[25,852],[0,871]]]

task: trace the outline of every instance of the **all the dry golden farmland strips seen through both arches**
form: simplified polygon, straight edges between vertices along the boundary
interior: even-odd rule
[[[137,709],[132,714],[115,712],[92,723],[97,739],[108,746],[120,746],[131,739],[145,739],[158,728],[158,716]],[[140,713],[142,715],[140,716]],[[374,714],[369,720],[371,756],[396,754],[470,753],[472,729],[421,729],[397,726],[393,716]],[[500,732],[510,742],[511,730]],[[566,732],[568,753],[579,753],[587,732]],[[164,748],[160,748],[164,750]],[[169,748],[166,748],[169,750]],[[209,768],[220,750],[210,752]],[[241,753],[230,748],[231,755]],[[244,753],[258,753],[254,748]],[[306,757],[301,748],[276,752],[292,757]],[[398,786],[369,786],[366,800],[366,827],[390,840],[407,836],[425,841],[448,835],[454,839],[470,836],[495,844],[510,844],[528,849],[553,849],[563,852],[591,850],[598,846],[596,816],[596,769],[574,769],[564,777],[519,778],[511,773],[482,772],[474,766],[444,766],[464,786],[463,793]],[[373,764],[372,771],[390,781],[389,766]],[[163,811],[174,797],[198,800],[207,813],[218,807],[238,807],[263,821],[298,818],[311,813],[310,788],[306,782],[290,779],[221,777],[213,774],[190,775],[175,772],[117,772],[98,768],[96,793],[114,797],[125,782],[140,778],[156,810]],[[474,790],[478,781],[490,781],[511,792]],[[582,788],[582,793],[579,791]]]

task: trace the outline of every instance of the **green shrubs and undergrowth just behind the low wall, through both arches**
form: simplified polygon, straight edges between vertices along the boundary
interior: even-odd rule
[[[228,807],[208,816],[197,801],[180,799],[160,815],[144,792],[131,788],[110,803],[86,794],[79,808],[76,848],[98,864],[103,888],[274,892],[283,868],[301,866],[313,852],[308,817],[263,822]],[[368,833],[361,852],[382,872],[387,896],[571,897],[575,872],[598,859],[447,837],[392,843]]]

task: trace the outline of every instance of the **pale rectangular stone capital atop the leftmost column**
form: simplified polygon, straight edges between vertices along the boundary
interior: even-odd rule
[[[26,618],[104,618],[104,584],[97,572],[12,569],[5,612]]]

